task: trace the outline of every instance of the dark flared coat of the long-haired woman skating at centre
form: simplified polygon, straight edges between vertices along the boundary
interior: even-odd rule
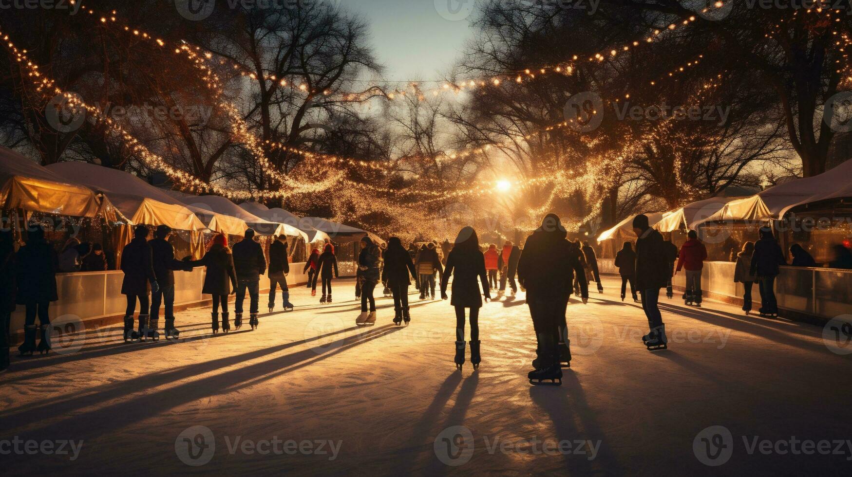
[[[497,250],[494,251],[497,253]],[[449,284],[450,276],[456,273],[456,277],[452,279],[452,300],[450,304],[453,307],[465,308],[481,308],[482,307],[482,292],[480,285],[476,283],[479,279],[482,283],[482,290],[490,297],[488,287],[488,273],[485,267],[485,256],[479,250],[464,250],[458,247],[452,249],[450,255],[446,257],[446,268],[440,280],[440,293],[446,294],[446,285]]]

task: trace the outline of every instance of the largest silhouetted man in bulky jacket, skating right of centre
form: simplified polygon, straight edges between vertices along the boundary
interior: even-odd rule
[[[567,338],[562,347],[568,351],[567,355],[560,349],[560,327],[564,326],[574,273],[579,276],[583,303],[589,300],[589,284],[583,265],[566,237],[567,232],[559,217],[550,214],[527,239],[518,261],[518,279],[527,290],[527,304],[538,340],[538,358],[533,361],[535,371],[529,373],[533,384],[541,380],[559,380],[561,383],[560,363],[570,359]]]

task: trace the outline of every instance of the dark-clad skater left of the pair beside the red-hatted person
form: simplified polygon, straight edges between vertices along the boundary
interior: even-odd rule
[[[159,292],[157,275],[153,267],[153,249],[148,243],[148,227],[137,225],[133,231],[134,238],[130,244],[124,245],[121,254],[121,271],[124,272],[124,282],[121,285],[122,295],[127,296],[127,309],[124,313],[124,342],[159,340],[159,333],[151,326],[150,302],[148,293]],[[150,285],[150,286],[149,286]],[[133,331],[133,314],[136,311],[136,301],[139,301],[139,326]]]

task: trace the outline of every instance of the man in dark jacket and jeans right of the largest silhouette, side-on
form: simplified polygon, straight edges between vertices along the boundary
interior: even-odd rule
[[[665,250],[663,236],[650,227],[648,216],[640,215],[633,219],[633,232],[636,240],[636,288],[642,293],[642,309],[648,317],[651,331],[642,336],[649,350],[667,348],[663,314],[659,312],[657,302],[659,290],[671,278],[671,267]]]

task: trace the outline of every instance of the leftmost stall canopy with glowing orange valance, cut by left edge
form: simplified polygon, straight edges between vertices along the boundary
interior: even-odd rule
[[[109,207],[89,187],[6,147],[0,147],[0,206],[74,217],[94,217]]]

